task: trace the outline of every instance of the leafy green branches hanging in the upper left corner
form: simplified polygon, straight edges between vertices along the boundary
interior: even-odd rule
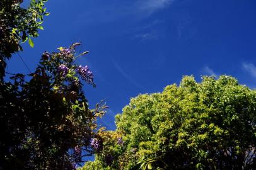
[[[44,3],[47,0],[32,0],[28,8],[22,8],[23,0],[0,1],[0,84],[3,81],[6,59],[22,50],[20,42],[28,42],[30,37],[38,37],[38,29],[43,29],[43,16],[47,16]]]

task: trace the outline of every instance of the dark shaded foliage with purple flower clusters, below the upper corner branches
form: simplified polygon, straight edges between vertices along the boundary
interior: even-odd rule
[[[105,105],[88,108],[82,80],[94,85],[93,74],[74,64],[76,45],[45,52],[30,81],[16,74],[0,87],[0,169],[73,169],[93,152]]]

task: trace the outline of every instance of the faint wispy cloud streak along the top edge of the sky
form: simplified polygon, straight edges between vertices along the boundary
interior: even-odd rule
[[[132,20],[143,20],[151,16],[154,12],[168,7],[173,0],[136,0],[136,1],[117,1],[111,3],[93,3],[88,6],[90,10],[84,10],[77,14],[75,24],[91,25],[98,23],[110,23],[123,18]],[[96,9],[95,13],[91,10]],[[95,10],[94,10],[95,11]],[[84,22],[81,22],[84,21]]]

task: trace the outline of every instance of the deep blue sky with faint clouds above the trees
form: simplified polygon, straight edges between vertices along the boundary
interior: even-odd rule
[[[256,88],[255,0],[49,0],[46,7],[44,31],[21,57],[33,71],[45,50],[81,42],[90,54],[77,62],[97,85],[84,91],[91,108],[105,99],[110,109],[100,123],[110,130],[130,98],[184,75],[227,74]],[[15,56],[8,72],[28,71]]]

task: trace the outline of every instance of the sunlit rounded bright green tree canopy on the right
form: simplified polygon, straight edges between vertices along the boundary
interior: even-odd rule
[[[132,98],[116,125],[83,169],[256,169],[256,91],[230,76]]]

